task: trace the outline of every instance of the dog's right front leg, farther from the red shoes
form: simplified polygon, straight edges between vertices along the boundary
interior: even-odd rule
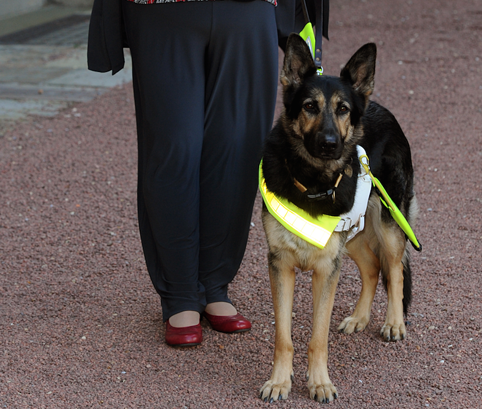
[[[317,270],[313,273],[313,334],[308,346],[307,380],[310,398],[321,403],[338,397],[328,375],[328,332],[340,274],[339,265],[333,267],[328,274]]]

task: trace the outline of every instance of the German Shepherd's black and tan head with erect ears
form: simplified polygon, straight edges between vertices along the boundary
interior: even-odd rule
[[[316,75],[308,46],[291,34],[281,71],[283,126],[298,155],[310,162],[338,162],[359,142],[360,120],[374,88],[376,46],[362,46],[340,77]],[[335,163],[333,163],[335,165]]]

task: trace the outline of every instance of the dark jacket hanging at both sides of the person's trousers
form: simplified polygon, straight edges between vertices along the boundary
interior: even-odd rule
[[[91,71],[112,71],[114,75],[124,66],[122,48],[128,47],[128,44],[124,34],[121,1],[126,0],[94,0],[87,46],[87,65]],[[316,23],[315,1],[323,2],[323,34],[328,38],[329,0],[306,0],[313,25]],[[299,32],[304,26],[301,1],[278,0],[276,25],[278,43],[284,50],[290,33]]]

